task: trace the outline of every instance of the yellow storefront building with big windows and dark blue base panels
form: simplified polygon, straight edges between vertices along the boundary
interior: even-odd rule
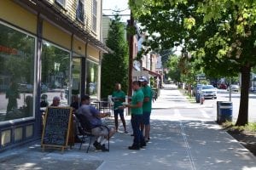
[[[55,96],[100,98],[101,0],[0,1],[0,152],[39,139]]]

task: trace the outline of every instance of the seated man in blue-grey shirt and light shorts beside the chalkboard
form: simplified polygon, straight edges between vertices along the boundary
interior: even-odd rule
[[[113,136],[115,129],[113,127],[103,126],[101,118],[110,116],[110,113],[100,113],[97,111],[95,107],[90,105],[90,96],[84,95],[81,98],[81,106],[78,114],[86,116],[90,122],[91,133],[96,136],[96,141],[93,144],[96,150],[108,151],[105,143],[108,141],[108,137],[111,138]]]

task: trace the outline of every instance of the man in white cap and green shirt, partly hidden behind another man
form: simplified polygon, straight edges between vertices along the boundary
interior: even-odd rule
[[[144,94],[143,100],[143,123],[141,125],[141,130],[144,132],[145,130],[145,141],[148,142],[149,140],[149,132],[150,132],[150,114],[152,110],[152,89],[148,86],[148,78],[142,77],[139,79],[141,82],[142,90]]]

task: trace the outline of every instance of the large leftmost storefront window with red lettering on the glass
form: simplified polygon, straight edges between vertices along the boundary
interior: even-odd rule
[[[0,23],[0,122],[33,116],[35,37]]]

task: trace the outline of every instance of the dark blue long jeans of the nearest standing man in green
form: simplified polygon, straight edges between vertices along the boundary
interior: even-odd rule
[[[132,115],[131,114],[131,127],[133,130],[133,144],[134,146],[140,147],[140,144],[145,143],[143,133],[140,130],[140,125],[143,122],[143,115]]]

